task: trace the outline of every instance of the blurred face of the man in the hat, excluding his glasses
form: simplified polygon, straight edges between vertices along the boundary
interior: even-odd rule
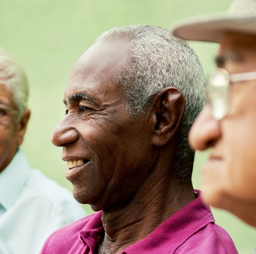
[[[256,36],[227,33],[218,56],[230,74],[256,71]],[[203,197],[211,205],[229,210],[227,200],[256,202],[255,98],[255,80],[232,83],[227,116],[217,121],[207,106],[191,129],[194,148],[212,147],[203,167]]]

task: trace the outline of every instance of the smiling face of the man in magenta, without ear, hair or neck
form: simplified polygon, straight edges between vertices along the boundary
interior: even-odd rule
[[[65,90],[66,117],[53,131],[52,142],[69,161],[75,198],[95,211],[125,204],[151,167],[147,111],[126,112],[126,97],[113,81],[127,64],[128,46],[128,39],[102,40],[80,57]]]

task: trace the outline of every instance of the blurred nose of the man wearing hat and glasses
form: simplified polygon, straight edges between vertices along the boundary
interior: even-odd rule
[[[194,150],[204,151],[214,146],[220,137],[220,122],[215,120],[211,113],[211,107],[207,105],[191,127],[190,145]]]

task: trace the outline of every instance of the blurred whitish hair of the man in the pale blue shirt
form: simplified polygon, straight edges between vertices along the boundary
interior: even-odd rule
[[[11,91],[19,117],[27,108],[29,86],[23,68],[10,55],[0,49],[0,84]]]

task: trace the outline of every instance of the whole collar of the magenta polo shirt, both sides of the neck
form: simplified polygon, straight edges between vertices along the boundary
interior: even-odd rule
[[[214,217],[201,197],[200,191],[194,190],[197,198],[177,211],[166,221],[161,223],[150,235],[141,241],[125,248],[122,254],[131,253],[160,253],[160,250],[174,253],[183,242],[191,235],[202,229],[209,223],[214,223]],[[98,240],[104,236],[104,228],[101,221],[102,212],[93,214],[91,220],[86,223],[80,232],[81,241],[90,250],[95,250]]]

